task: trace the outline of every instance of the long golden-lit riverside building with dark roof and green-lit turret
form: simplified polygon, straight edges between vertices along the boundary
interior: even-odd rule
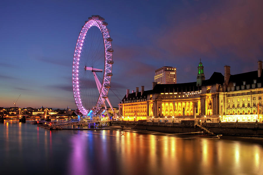
[[[125,120],[188,117],[210,118],[222,122],[262,121],[262,61],[258,70],[230,74],[230,66],[224,66],[224,75],[214,72],[205,80],[202,63],[199,63],[197,82],[157,84],[153,89],[136,88],[119,104],[119,117]],[[201,77],[201,78],[200,78]],[[198,81],[200,80],[200,84]],[[200,86],[197,86],[200,85]]]

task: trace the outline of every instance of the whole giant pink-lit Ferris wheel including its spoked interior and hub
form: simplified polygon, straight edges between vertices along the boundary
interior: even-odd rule
[[[105,106],[112,74],[108,23],[92,15],[79,33],[73,57],[72,84],[75,103],[82,115],[96,115]]]

